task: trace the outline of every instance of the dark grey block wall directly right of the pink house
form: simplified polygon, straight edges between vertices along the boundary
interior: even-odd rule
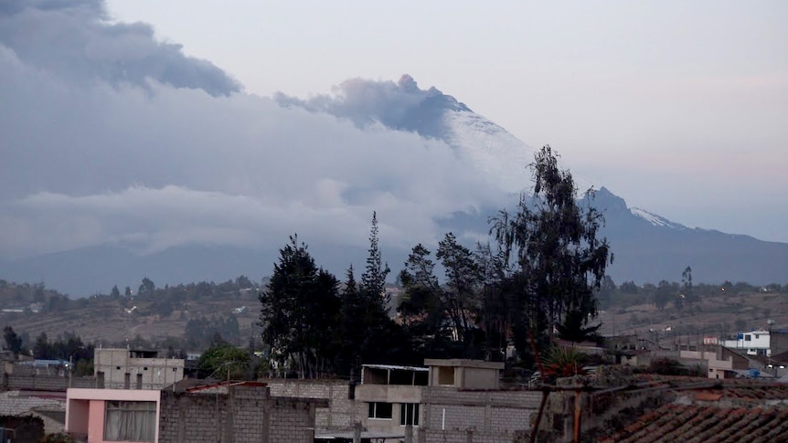
[[[267,387],[225,393],[162,392],[159,441],[172,443],[312,443],[314,407],[326,402],[269,396]]]

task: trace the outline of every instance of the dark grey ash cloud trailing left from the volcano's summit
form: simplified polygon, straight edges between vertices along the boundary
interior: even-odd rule
[[[335,88],[335,94],[321,94],[308,100],[283,93],[277,94],[275,99],[284,106],[300,106],[350,119],[360,127],[380,122],[389,129],[443,140],[449,131],[443,121],[444,112],[470,111],[463,103],[434,87],[421,90],[408,74],[396,83],[348,79]]]

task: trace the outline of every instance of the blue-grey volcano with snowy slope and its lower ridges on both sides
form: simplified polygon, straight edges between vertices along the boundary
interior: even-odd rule
[[[309,100],[284,94],[274,99],[282,107],[330,114],[337,119],[353,121],[359,127],[378,124],[389,130],[415,132],[425,139],[444,142],[457,157],[473,165],[485,181],[495,184],[501,194],[496,201],[506,202],[503,206],[515,206],[520,193],[530,185],[526,166],[533,162],[535,150],[452,96],[434,87],[421,90],[407,74],[396,83],[348,80],[343,91],[335,96],[317,96]],[[361,100],[357,95],[367,100],[365,106],[357,104]],[[575,180],[579,189],[589,187],[585,185],[585,178],[575,177]],[[788,281],[786,243],[686,227],[638,206],[630,207],[604,186],[593,194],[593,200],[586,203],[592,203],[605,216],[601,234],[611,243],[615,260],[609,273],[616,281],[679,280],[687,266],[692,267],[694,278],[699,282],[729,280],[768,284]],[[502,208],[495,206],[496,201],[486,206],[458,207],[452,216],[433,221],[443,232],[452,231],[461,241],[474,243],[486,237],[488,217]],[[335,275],[343,275],[351,263],[363,263],[366,248],[332,245],[324,241],[325,238],[311,237],[308,232],[303,234],[318,264]],[[381,240],[385,243],[385,236]],[[133,282],[138,284],[144,277],[160,286],[230,280],[239,275],[257,280],[270,274],[285,241],[286,238],[282,238],[279,243],[264,247],[188,244],[148,255],[111,245],[77,248],[5,262],[0,278],[28,282],[43,280],[55,289],[76,296],[109,291],[115,284],[134,287]],[[396,274],[398,265],[410,251],[401,245],[384,245],[383,248]],[[357,269],[360,268],[357,266]]]

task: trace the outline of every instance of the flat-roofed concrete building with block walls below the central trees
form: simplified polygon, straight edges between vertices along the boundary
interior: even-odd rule
[[[367,364],[361,385],[340,380],[282,380],[266,383],[272,393],[319,396],[318,441],[350,441],[361,424],[363,441],[510,443],[527,435],[541,393],[502,389],[502,363],[429,359],[426,367]],[[365,440],[366,439],[366,440]]]

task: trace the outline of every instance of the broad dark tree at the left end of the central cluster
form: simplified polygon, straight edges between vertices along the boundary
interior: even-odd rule
[[[280,249],[271,282],[261,291],[262,341],[284,366],[293,360],[302,378],[316,376],[334,361],[332,338],[339,327],[338,281],[318,269],[298,237]]]

